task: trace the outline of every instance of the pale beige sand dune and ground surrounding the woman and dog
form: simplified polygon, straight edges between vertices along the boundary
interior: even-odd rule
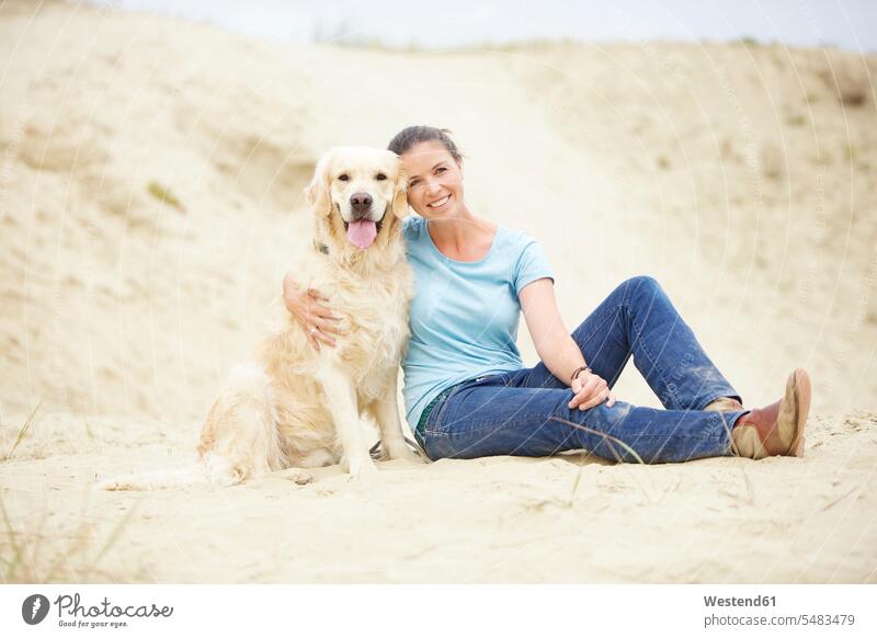
[[[3,2],[3,580],[877,581],[875,73],[751,43],[278,46]],[[455,132],[477,214],[543,243],[569,328],[650,274],[747,405],[810,369],[806,457],[93,492],[194,458],[307,250],[317,158],[412,123]],[[633,366],[616,389],[658,405]]]

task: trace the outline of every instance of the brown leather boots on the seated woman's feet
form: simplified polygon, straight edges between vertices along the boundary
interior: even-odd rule
[[[785,396],[766,408],[740,417],[731,431],[738,456],[804,456],[804,428],[810,412],[810,377],[796,369],[786,381]]]

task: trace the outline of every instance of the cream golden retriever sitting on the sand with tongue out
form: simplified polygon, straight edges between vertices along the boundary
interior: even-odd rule
[[[305,193],[316,217],[315,249],[296,281],[331,299],[345,335],[317,352],[286,314],[253,361],[231,372],[204,422],[194,466],[109,479],[99,488],[230,486],[281,470],[307,482],[306,468],[339,462],[354,476],[375,471],[366,414],[378,425],[385,458],[417,458],[396,398],[414,285],[401,235],[408,202],[399,159],[337,148],[320,160]]]

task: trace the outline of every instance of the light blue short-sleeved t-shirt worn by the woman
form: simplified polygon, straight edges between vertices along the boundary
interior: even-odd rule
[[[524,366],[515,344],[517,295],[536,280],[554,280],[542,247],[522,232],[498,227],[483,259],[462,262],[438,251],[426,226],[422,217],[408,217],[403,226],[417,284],[402,361],[412,430],[430,401],[451,386]]]

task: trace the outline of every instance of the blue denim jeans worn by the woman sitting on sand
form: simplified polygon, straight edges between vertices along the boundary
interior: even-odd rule
[[[426,420],[423,445],[430,458],[588,449],[611,460],[636,460],[618,441],[645,463],[732,454],[730,429],[745,412],[702,410],[719,397],[740,397],[653,278],[624,282],[572,338],[610,387],[633,355],[665,409],[623,401],[612,408],[569,409],[572,390],[539,363],[455,386]]]

